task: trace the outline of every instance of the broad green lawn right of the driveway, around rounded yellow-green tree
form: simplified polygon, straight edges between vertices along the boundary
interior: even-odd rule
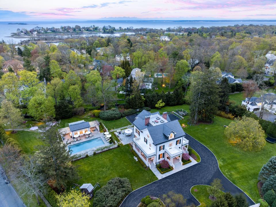
[[[187,125],[187,118],[179,122]],[[184,131],[208,147],[218,159],[223,174],[257,202],[260,198],[258,173],[269,158],[276,155],[276,145],[266,143],[258,152],[244,152],[233,147],[224,138],[224,125],[231,121],[216,116],[212,124],[187,125]]]

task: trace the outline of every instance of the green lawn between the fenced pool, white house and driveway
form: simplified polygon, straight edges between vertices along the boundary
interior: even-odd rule
[[[78,185],[97,182],[101,186],[114,177],[128,178],[133,190],[147,185],[157,178],[153,172],[145,170],[143,166],[133,159],[131,147],[124,145],[112,150],[108,150],[91,157],[85,157],[73,162],[78,166],[78,173],[81,178]]]

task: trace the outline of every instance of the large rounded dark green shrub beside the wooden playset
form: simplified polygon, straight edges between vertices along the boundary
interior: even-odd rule
[[[93,206],[115,207],[131,191],[132,189],[129,179],[115,177],[108,181],[106,185],[97,190],[97,192],[95,193],[95,198],[93,200]]]

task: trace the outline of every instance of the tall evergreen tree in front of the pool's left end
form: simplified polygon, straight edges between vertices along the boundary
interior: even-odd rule
[[[40,171],[49,179],[51,187],[60,192],[78,178],[76,167],[71,163],[74,156],[67,150],[69,143],[64,143],[61,137],[57,138],[56,126],[46,126],[43,135],[44,145],[36,153]]]

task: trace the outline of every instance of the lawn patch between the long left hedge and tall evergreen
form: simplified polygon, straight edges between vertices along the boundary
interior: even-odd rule
[[[6,133],[18,141],[23,151],[27,154],[34,153],[36,146],[44,144],[38,132],[17,131],[17,133],[11,134],[11,131],[7,131]]]

